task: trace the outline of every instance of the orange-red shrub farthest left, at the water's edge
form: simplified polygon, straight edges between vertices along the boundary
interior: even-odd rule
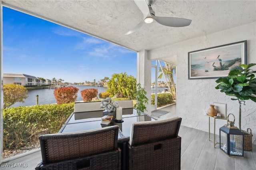
[[[55,89],[53,94],[57,104],[71,103],[76,101],[78,90],[74,86],[68,86]]]

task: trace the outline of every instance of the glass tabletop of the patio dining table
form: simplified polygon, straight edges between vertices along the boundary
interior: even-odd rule
[[[106,126],[118,125],[119,132],[118,138],[130,137],[130,128],[134,122],[142,121],[155,121],[153,117],[150,117],[146,113],[138,111],[137,109],[123,109],[122,111],[123,123],[116,123],[112,120],[110,125],[102,125],[101,117],[103,116],[103,111],[92,111],[92,112],[79,112],[71,113],[67,121],[64,123],[59,133],[64,132],[76,132],[81,130],[91,130],[95,128],[102,128]]]

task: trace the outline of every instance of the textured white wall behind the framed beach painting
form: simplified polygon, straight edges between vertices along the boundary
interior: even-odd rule
[[[204,112],[210,104],[217,102],[227,103],[227,114],[235,115],[235,126],[238,127],[238,101],[232,101],[231,97],[216,90],[216,79],[188,79],[188,52],[243,40],[247,40],[247,63],[256,63],[256,22],[148,52],[150,59],[177,56],[176,114],[182,117],[182,125],[208,131],[208,117]],[[213,119],[211,121],[213,122]],[[216,120],[217,134],[219,128],[225,124],[226,120]],[[211,126],[213,127],[213,123]],[[247,100],[246,105],[242,107],[241,128],[243,130],[251,128],[255,139],[256,103]]]

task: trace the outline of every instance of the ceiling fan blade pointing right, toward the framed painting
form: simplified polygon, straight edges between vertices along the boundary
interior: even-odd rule
[[[192,20],[184,18],[174,18],[174,17],[159,17],[152,15],[154,20],[159,24],[169,27],[184,27],[189,26]]]

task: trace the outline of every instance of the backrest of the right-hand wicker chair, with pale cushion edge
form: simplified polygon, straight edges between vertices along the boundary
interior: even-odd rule
[[[178,136],[181,118],[174,117],[158,121],[135,122],[131,125],[130,145],[135,146]]]

